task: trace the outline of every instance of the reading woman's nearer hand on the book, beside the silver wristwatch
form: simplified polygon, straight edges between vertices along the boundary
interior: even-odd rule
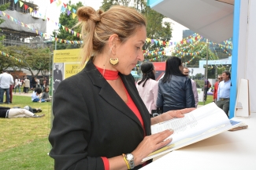
[[[173,130],[165,130],[151,136],[146,136],[143,141],[139,143],[139,146],[137,146],[136,149],[132,151],[135,166],[143,164],[143,158],[147,157],[155,150],[158,150],[161,147],[166,146],[168,143],[170,143],[172,141],[172,138],[166,138],[171,136],[172,134]]]

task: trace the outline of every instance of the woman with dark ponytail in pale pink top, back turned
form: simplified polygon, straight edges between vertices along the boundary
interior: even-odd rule
[[[154,65],[151,62],[141,64],[143,79],[136,85],[139,96],[143,99],[147,110],[151,114],[151,110],[157,109],[158,99],[158,81],[155,81]]]

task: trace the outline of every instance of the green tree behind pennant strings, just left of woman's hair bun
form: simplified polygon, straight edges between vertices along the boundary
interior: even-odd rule
[[[71,1],[68,3],[69,6],[72,7],[72,9],[78,9],[79,7],[83,6],[82,2],[76,3],[76,5],[71,4]],[[72,18],[72,15],[67,15],[67,13],[61,13],[60,15],[60,21],[61,27],[58,29],[58,38],[65,39],[65,40],[74,40],[74,41],[80,41],[80,36],[74,36],[73,34],[70,34],[69,31],[66,31],[63,29],[62,26],[68,27],[72,31],[76,31],[76,33],[81,32],[80,27],[74,27],[78,23],[78,18]],[[54,37],[57,32],[53,32]],[[62,43],[58,43],[58,49],[77,49],[79,48],[79,45],[64,45]]]

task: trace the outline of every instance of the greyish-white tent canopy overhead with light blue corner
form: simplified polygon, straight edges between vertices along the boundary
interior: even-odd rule
[[[148,4],[213,42],[232,38],[234,5],[216,0],[148,0]]]

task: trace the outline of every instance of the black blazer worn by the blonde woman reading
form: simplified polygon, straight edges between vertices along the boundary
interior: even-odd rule
[[[150,135],[150,114],[132,74],[119,74]],[[55,169],[104,169],[101,157],[131,153],[144,138],[139,119],[89,61],[54,94],[49,141]],[[135,169],[141,166],[135,167]]]

